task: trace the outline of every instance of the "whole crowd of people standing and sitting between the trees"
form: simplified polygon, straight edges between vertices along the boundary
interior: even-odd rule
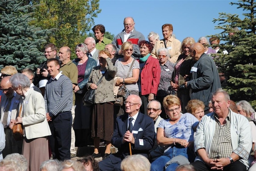
[[[96,40],[78,44],[73,60],[68,46],[47,44],[37,70],[1,70],[0,169],[255,170],[256,113],[230,100],[213,60],[230,50],[217,37],[181,42],[171,24],[162,26],[163,39],[150,32],[148,41],[132,17],[123,26],[113,41],[94,26]],[[22,140],[13,136],[18,124]],[[75,147],[92,144],[93,154],[71,160]]]

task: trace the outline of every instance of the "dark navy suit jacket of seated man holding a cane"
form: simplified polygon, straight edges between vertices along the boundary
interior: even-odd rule
[[[149,116],[139,112],[137,119],[133,126],[133,131],[138,131],[138,134],[133,133],[135,143],[131,144],[132,154],[141,154],[148,157],[148,151],[152,149],[154,143],[154,122]],[[112,136],[111,143],[118,148],[117,155],[121,159],[125,156],[130,155],[129,143],[123,143],[122,139],[125,132],[128,130],[128,114],[121,115],[116,120],[114,128],[114,134]],[[139,131],[142,130],[142,131]],[[139,139],[143,140],[143,145],[139,143]],[[110,158],[113,157],[112,155]],[[117,156],[116,156],[117,157]],[[111,159],[112,160],[112,159]],[[113,161],[113,160],[112,160]]]

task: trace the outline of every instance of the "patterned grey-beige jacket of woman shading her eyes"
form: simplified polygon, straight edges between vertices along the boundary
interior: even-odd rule
[[[103,71],[106,72],[108,70],[108,72],[104,75],[101,82],[97,86],[97,89],[95,91],[95,103],[106,103],[115,101],[113,86],[117,67],[114,67],[111,58],[107,58],[106,61],[107,66],[103,69]],[[86,85],[88,90],[90,89],[90,85],[92,83],[97,84],[97,82],[101,78],[102,73],[99,72],[99,68],[100,66],[96,66],[93,68],[89,77],[89,81]]]

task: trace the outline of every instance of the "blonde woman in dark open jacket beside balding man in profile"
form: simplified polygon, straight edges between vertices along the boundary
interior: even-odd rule
[[[192,57],[190,57],[189,48],[195,43],[194,38],[187,37],[181,43],[181,55],[179,55],[174,66],[172,74],[172,89],[176,91],[178,98],[181,99],[181,110],[186,113],[187,102],[190,100],[189,90],[185,88],[183,83],[189,80],[191,67],[194,65]]]

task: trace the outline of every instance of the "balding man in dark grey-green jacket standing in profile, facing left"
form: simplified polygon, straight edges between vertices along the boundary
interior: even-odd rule
[[[185,86],[190,89],[190,98],[204,102],[205,114],[209,113],[208,102],[212,93],[221,88],[219,73],[212,58],[204,53],[204,47],[200,43],[193,44],[190,49],[190,56],[196,63],[191,68],[192,77],[185,82]],[[192,90],[192,91],[191,91]]]

